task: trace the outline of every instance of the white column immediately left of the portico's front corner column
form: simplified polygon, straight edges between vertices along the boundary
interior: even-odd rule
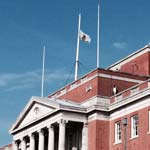
[[[54,150],[54,127],[48,127],[48,150]]]

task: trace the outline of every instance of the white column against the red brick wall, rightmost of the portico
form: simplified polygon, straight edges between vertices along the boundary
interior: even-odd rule
[[[87,150],[88,149],[87,145],[88,145],[88,124],[84,123],[82,129],[82,150]]]

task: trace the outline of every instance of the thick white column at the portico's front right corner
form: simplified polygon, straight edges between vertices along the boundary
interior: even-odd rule
[[[61,119],[59,122],[58,150],[65,150],[65,132],[66,132],[66,121]]]

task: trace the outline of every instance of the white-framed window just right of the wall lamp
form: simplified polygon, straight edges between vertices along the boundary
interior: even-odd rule
[[[138,136],[138,115],[131,117],[131,138]]]

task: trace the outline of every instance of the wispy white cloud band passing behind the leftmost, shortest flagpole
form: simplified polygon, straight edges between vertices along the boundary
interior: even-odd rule
[[[45,70],[45,83],[56,84],[65,81],[73,75],[68,74],[65,70]],[[4,91],[14,91],[27,88],[34,88],[41,84],[41,70],[23,73],[3,73],[0,74],[0,88]]]

